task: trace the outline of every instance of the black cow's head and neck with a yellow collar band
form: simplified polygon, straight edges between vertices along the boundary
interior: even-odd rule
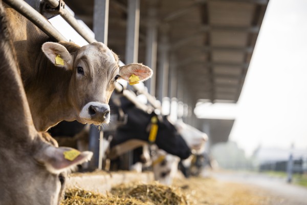
[[[159,149],[162,149],[172,155],[186,159],[190,156],[191,150],[187,146],[183,137],[177,132],[166,116],[158,116],[155,113],[146,113],[137,108],[125,97],[120,98],[120,107],[110,104],[114,113],[118,113],[120,108],[127,115],[127,122],[117,127],[113,133],[111,141],[111,150],[116,146],[127,142],[128,140],[140,140],[146,143],[155,143]],[[153,122],[155,118],[157,121]],[[152,125],[157,127],[157,133],[154,134],[153,140],[150,139]]]

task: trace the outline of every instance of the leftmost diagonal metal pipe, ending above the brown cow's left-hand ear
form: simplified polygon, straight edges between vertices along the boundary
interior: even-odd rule
[[[35,9],[33,9],[29,4],[22,0],[3,0],[7,5],[23,14],[26,18],[28,18],[33,24],[35,24],[40,30],[45,32],[49,37],[54,40],[68,41],[60,32],[58,32],[48,20],[43,17],[40,13],[38,13]]]

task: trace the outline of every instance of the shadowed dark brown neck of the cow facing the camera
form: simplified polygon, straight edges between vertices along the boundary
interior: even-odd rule
[[[59,121],[75,119],[75,116],[67,117],[67,113],[74,113],[68,99],[72,72],[55,67],[45,55],[39,55],[37,72],[28,80],[26,93],[35,128],[38,131],[47,131]]]

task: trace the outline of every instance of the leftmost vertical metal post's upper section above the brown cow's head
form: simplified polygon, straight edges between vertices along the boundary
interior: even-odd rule
[[[93,30],[98,42],[107,45],[109,0],[94,0]]]

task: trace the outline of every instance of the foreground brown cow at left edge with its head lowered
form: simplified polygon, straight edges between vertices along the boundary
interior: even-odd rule
[[[56,205],[65,173],[92,153],[55,148],[41,140],[9,37],[0,0],[0,205]],[[72,152],[75,156],[69,157]]]

